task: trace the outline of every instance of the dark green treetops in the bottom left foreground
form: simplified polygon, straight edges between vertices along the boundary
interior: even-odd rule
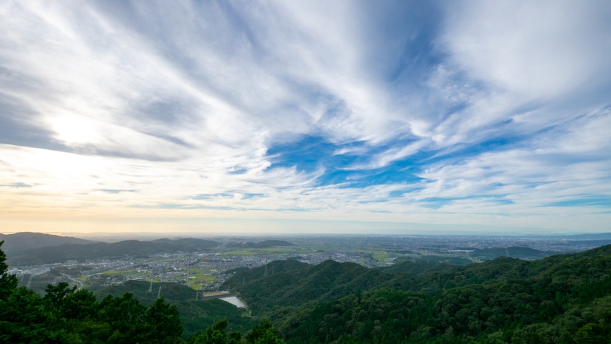
[[[48,285],[40,296],[32,289],[17,288],[17,278],[7,271],[6,255],[0,249],[0,343],[184,343],[178,307],[163,296],[150,298],[147,306],[129,292],[98,299],[67,283]],[[209,316],[206,305],[213,306],[208,312],[220,312],[213,314],[219,318],[228,315],[222,314],[224,310],[236,309],[221,300],[195,305],[200,307],[193,310],[195,314],[186,314],[191,319]],[[283,343],[269,321],[261,321],[244,337],[230,332],[226,319],[200,330],[204,332],[188,336],[186,343]]]

